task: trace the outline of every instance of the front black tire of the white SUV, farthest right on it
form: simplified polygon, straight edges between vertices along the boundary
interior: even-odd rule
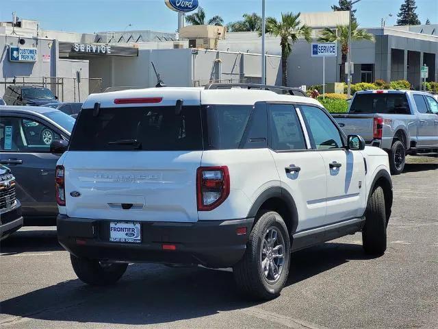
[[[368,199],[365,217],[365,226],[362,230],[363,249],[370,255],[383,255],[387,245],[387,220],[385,195],[381,186],[377,186]]]

